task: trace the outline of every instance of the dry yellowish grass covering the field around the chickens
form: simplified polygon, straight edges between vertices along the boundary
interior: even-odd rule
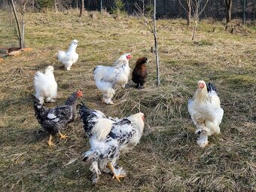
[[[89,14],[89,13],[88,13]],[[255,191],[256,136],[256,32],[254,26],[224,32],[222,23],[203,21],[191,41],[192,27],[184,20],[157,20],[160,87],[155,86],[154,38],[134,17],[78,17],[78,12],[27,13],[26,45],[30,52],[7,57],[0,74],[0,185],[3,191]],[[9,38],[8,14],[1,11],[0,42]],[[215,32],[212,32],[212,27]],[[13,30],[13,29],[12,29]],[[8,38],[7,38],[8,37]],[[66,50],[78,39],[78,62],[70,72],[56,61],[57,50]],[[139,56],[147,56],[145,90],[118,90],[116,105],[104,105],[92,71],[111,65],[120,53],[130,52],[133,69]],[[127,172],[121,183],[102,174],[99,184],[90,180],[90,165],[81,161],[89,148],[80,120],[64,131],[69,139],[56,147],[46,144],[32,108],[36,70],[55,64],[58,99],[63,103],[82,89],[81,101],[111,117],[145,113],[145,131],[133,151],[118,163]],[[198,147],[187,100],[197,81],[211,81],[218,88],[224,119],[221,135],[211,136],[209,146]]]

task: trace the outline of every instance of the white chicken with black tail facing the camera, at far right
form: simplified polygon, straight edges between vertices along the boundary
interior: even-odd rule
[[[193,99],[187,105],[188,112],[197,126],[196,134],[200,134],[197,144],[205,148],[208,144],[208,136],[219,134],[220,123],[224,114],[221,102],[216,93],[216,88],[205,81],[198,82],[198,89]]]

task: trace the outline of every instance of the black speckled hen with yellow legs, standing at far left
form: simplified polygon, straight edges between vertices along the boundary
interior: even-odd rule
[[[35,117],[38,123],[50,133],[48,145],[53,145],[53,135],[58,134],[60,139],[66,139],[68,136],[63,136],[60,130],[64,129],[68,123],[75,120],[76,102],[78,97],[82,96],[80,90],[72,93],[66,100],[65,105],[59,105],[56,108],[44,108],[38,99],[35,99]]]

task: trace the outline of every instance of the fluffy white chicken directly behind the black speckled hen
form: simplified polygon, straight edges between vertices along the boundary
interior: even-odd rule
[[[55,102],[57,96],[57,83],[53,75],[53,66],[47,66],[44,73],[36,72],[34,78],[35,97],[41,104],[46,102]]]

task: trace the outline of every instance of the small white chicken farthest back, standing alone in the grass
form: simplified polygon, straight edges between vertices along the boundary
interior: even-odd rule
[[[66,52],[58,51],[57,58],[67,70],[70,70],[71,66],[78,61],[78,53],[75,52],[76,47],[78,47],[78,40],[74,39]]]

